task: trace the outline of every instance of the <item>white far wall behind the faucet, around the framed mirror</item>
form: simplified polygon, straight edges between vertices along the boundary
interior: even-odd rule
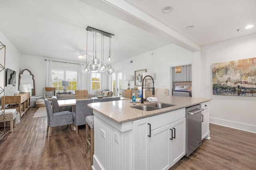
[[[153,55],[151,55],[153,53]],[[114,56],[113,60],[114,60]],[[112,64],[115,70],[123,70],[123,75],[134,75],[135,70],[147,69],[154,72],[155,88],[168,88],[170,95],[172,66],[192,64],[194,53],[177,45],[170,44],[147,53]],[[196,59],[197,60],[197,59]],[[130,63],[130,61],[133,61]],[[192,64],[193,66],[193,64]],[[130,81],[130,88],[134,88],[134,81]],[[123,83],[123,89],[127,89],[127,81]]]

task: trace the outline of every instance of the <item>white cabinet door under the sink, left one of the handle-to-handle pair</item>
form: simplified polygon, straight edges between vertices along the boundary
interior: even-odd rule
[[[171,167],[171,124],[151,131],[150,170],[168,170]]]

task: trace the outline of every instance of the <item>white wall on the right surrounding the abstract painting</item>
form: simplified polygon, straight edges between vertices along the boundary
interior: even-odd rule
[[[202,47],[202,93],[213,99],[211,123],[256,133],[256,97],[212,95],[213,63],[253,57],[256,57],[256,34]]]

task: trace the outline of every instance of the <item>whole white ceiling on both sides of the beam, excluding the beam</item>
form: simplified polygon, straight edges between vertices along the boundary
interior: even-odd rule
[[[90,5],[101,0],[88,1]],[[86,27],[114,34],[114,62],[172,43],[154,31],[134,26],[113,11],[105,12],[79,0],[0,0],[0,31],[24,55],[52,57],[69,61],[86,53]],[[110,0],[111,1],[111,0]],[[121,0],[120,0],[121,1]],[[103,2],[103,1],[102,1]],[[256,0],[126,0],[150,17],[199,46],[256,33]],[[162,13],[166,5],[172,12]],[[111,15],[110,15],[111,14]],[[115,15],[115,16],[113,16]],[[244,29],[248,24],[255,25]],[[135,24],[136,25],[136,24]],[[193,29],[186,29],[195,25]],[[235,31],[240,29],[239,32]],[[101,57],[97,37],[97,57]],[[108,57],[105,38],[104,57]],[[92,33],[88,32],[88,53],[92,56]],[[89,57],[90,59],[91,57]]]

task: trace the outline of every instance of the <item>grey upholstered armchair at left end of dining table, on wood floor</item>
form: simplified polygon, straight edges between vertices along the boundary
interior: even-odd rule
[[[73,131],[73,114],[70,111],[53,113],[50,101],[44,99],[44,104],[47,112],[47,132],[50,127],[50,136],[52,135],[52,127],[71,125]]]

